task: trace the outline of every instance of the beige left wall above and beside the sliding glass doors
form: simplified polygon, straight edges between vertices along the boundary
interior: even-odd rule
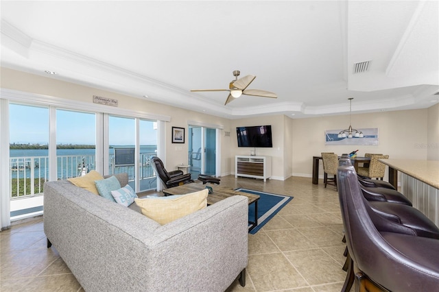
[[[188,138],[188,121],[198,121],[200,123],[209,123],[213,125],[222,125],[230,128],[230,121],[220,117],[213,117],[208,114],[194,112],[191,110],[183,110],[173,106],[157,104],[144,98],[130,97],[119,93],[81,86],[69,82],[63,82],[51,77],[43,77],[33,75],[12,69],[1,68],[1,87],[13,90],[20,90],[28,93],[36,93],[39,95],[47,95],[49,97],[60,97],[63,99],[71,99],[75,101],[83,101],[93,103],[93,95],[117,99],[119,108],[132,110],[133,112],[146,112],[151,114],[163,114],[171,117],[171,121],[166,124],[166,164],[168,170],[177,169],[177,165],[187,163],[189,143]],[[32,100],[29,100],[32,103]],[[171,143],[171,128],[185,127],[185,143]],[[230,151],[226,139],[222,141],[223,157],[230,156]],[[230,169],[230,165],[222,162],[222,169]]]

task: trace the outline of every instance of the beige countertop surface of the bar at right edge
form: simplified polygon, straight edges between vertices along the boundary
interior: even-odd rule
[[[385,165],[439,188],[438,160],[380,159]]]

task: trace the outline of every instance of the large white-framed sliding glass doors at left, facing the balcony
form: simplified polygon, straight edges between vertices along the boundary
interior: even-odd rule
[[[44,182],[86,175],[128,173],[136,192],[156,188],[151,158],[164,153],[164,121],[84,112],[1,99],[1,218],[5,223],[43,213]],[[135,115],[135,113],[134,113]],[[158,143],[160,137],[161,143]],[[159,145],[160,144],[160,145]],[[3,147],[4,145],[4,147]],[[4,175],[3,175],[4,173]]]

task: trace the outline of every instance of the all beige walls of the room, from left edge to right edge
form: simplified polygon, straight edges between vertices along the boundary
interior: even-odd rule
[[[337,154],[359,149],[359,156],[368,153],[389,154],[390,158],[439,160],[439,105],[429,109],[377,112],[373,114],[353,114],[352,125],[357,128],[378,127],[377,146],[327,146],[324,145],[324,131],[345,129],[349,117],[332,116],[309,119],[289,119],[283,114],[245,119],[223,119],[208,114],[157,104],[143,98],[129,97],[106,90],[90,88],[55,80],[51,77],[32,75],[20,71],[1,68],[1,87],[30,93],[73,99],[92,103],[93,95],[119,101],[119,108],[135,112],[150,112],[171,117],[166,124],[166,165],[176,169],[176,165],[187,161],[189,144],[171,143],[171,127],[185,127],[188,138],[188,121],[198,121],[221,125],[222,175],[235,173],[235,155],[250,155],[250,148],[237,147],[236,127],[246,125],[272,125],[273,147],[257,148],[257,155],[272,156],[272,175],[283,180],[290,175],[311,177],[312,156],[320,156],[322,151]],[[32,101],[29,101],[32,102]],[[226,136],[225,132],[230,132]],[[322,169],[320,169],[320,173]]]

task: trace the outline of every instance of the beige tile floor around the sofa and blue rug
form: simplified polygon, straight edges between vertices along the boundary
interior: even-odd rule
[[[221,186],[293,196],[257,234],[248,235],[246,287],[228,291],[340,291],[346,273],[337,191],[311,178],[223,177]],[[0,291],[84,291],[58,252],[47,249],[43,218],[0,232]]]

